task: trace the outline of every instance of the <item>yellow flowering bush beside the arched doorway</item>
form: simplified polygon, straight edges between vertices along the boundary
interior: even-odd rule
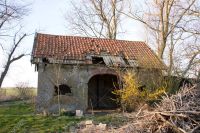
[[[117,102],[119,102],[122,109],[126,111],[133,111],[149,101],[156,101],[166,90],[165,87],[160,87],[153,91],[148,88],[141,90],[140,82],[131,72],[125,73],[122,76],[122,80],[123,87],[114,90],[113,93],[118,96]]]

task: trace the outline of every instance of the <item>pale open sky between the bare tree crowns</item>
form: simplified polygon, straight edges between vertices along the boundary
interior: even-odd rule
[[[48,34],[72,35],[67,30],[64,14],[71,9],[70,0],[27,0],[32,2],[31,11],[25,17],[23,25],[27,33],[36,31]],[[123,27],[126,34],[120,36],[120,39],[144,41],[145,31],[141,24],[136,22],[127,22]],[[21,51],[31,53],[34,34],[27,37],[21,44]],[[3,59],[0,57],[0,65],[3,65]],[[3,87],[14,87],[19,82],[28,82],[30,86],[37,87],[37,72],[34,71],[34,65],[30,63],[30,56],[12,64],[7,77],[3,82]]]

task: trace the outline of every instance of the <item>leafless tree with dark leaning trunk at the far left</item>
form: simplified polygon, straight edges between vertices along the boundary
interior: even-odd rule
[[[16,51],[22,40],[27,36],[26,34],[19,35],[21,31],[21,26],[19,26],[19,24],[28,11],[27,6],[28,5],[19,4],[16,1],[0,0],[0,46],[3,53],[6,54],[6,62],[0,75],[0,88],[10,65],[25,56],[23,53],[16,55]],[[13,43],[10,46],[8,40],[11,39]],[[7,51],[5,48],[8,47],[11,48]]]

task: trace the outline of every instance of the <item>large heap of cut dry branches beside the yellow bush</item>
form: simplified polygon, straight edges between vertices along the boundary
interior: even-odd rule
[[[163,97],[153,111],[140,110],[116,132],[200,133],[200,85]]]

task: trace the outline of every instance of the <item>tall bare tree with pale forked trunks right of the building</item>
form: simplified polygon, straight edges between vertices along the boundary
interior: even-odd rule
[[[169,74],[175,67],[174,56],[177,56],[175,53],[179,56],[183,54],[180,48],[190,45],[191,40],[194,40],[194,34],[197,36],[200,33],[196,29],[196,25],[200,23],[199,2],[199,0],[147,0],[142,4],[144,8],[133,9],[135,7],[130,6],[129,13],[123,13],[147,27],[151,33],[151,40],[156,44],[158,57],[167,60],[169,64]],[[192,58],[190,61],[193,61]],[[190,64],[188,67],[190,68]]]

